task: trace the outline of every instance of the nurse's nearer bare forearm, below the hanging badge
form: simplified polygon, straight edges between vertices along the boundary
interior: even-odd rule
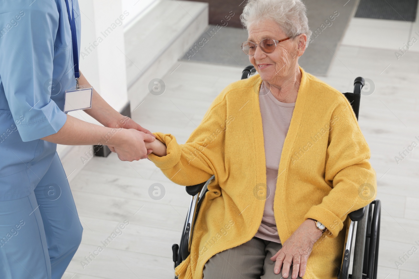
[[[118,131],[119,130],[119,131]],[[67,115],[67,120],[62,128],[55,134],[41,138],[44,141],[65,145],[110,145],[123,135],[127,129],[107,128],[93,123],[88,123],[78,118]]]

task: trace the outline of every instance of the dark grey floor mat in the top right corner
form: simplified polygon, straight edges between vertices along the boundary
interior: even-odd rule
[[[356,18],[416,21],[418,0],[361,0]]]

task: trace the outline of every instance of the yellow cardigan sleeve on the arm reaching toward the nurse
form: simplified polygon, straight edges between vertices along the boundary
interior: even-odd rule
[[[217,166],[224,166],[225,131],[231,119],[226,114],[227,88],[212,102],[202,122],[185,144],[178,144],[171,134],[154,133],[166,144],[167,155],[148,155],[148,158],[176,184],[190,186],[207,181],[215,175]]]

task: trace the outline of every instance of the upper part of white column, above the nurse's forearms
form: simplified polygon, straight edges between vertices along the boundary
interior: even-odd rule
[[[121,0],[80,0],[80,70],[113,108],[128,102]],[[106,31],[107,30],[107,31]]]

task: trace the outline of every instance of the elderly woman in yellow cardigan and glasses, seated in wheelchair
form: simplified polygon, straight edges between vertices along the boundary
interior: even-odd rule
[[[304,4],[249,0],[241,20],[259,74],[228,85],[185,144],[163,133],[147,143],[177,184],[215,176],[175,273],[336,278],[347,214],[375,197],[370,149],[344,95],[298,65],[311,33]]]

